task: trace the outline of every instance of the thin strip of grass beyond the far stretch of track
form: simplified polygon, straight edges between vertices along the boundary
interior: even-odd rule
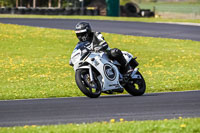
[[[108,17],[108,16],[64,16],[64,15],[9,15],[0,14],[0,18],[51,18],[51,19],[89,19],[89,20],[114,20],[114,21],[137,21],[137,22],[189,22],[200,23],[200,19],[167,19],[145,17]]]

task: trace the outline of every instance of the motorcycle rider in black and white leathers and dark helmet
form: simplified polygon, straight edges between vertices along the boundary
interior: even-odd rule
[[[117,60],[121,65],[120,72],[126,74],[129,72],[129,65],[126,62],[121,50],[114,48],[110,49],[107,42],[100,32],[92,31],[92,28],[88,22],[79,22],[75,27],[75,33],[80,42],[88,41],[92,45],[95,52],[104,51],[108,54],[108,57],[112,60]],[[70,65],[73,65],[70,61]]]

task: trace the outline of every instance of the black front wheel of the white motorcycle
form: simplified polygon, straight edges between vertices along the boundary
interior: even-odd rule
[[[90,81],[89,70],[79,69],[75,73],[75,80],[78,88],[83,94],[90,98],[97,98],[101,95],[101,84],[96,78],[97,75],[94,75],[94,82]]]

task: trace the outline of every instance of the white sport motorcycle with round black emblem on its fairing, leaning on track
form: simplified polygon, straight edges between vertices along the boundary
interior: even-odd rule
[[[132,67],[130,74],[120,73],[120,64],[111,60],[105,52],[94,52],[89,42],[80,42],[71,55],[71,65],[75,71],[75,81],[83,94],[97,98],[101,93],[123,93],[124,89],[133,96],[141,96],[146,90],[143,76],[138,71],[136,58],[122,51]]]

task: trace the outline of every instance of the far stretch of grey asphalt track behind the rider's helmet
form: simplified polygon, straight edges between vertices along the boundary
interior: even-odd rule
[[[74,30],[79,21],[89,21],[94,30],[107,33],[200,41],[200,26],[101,20],[0,18],[1,23],[70,30]]]

